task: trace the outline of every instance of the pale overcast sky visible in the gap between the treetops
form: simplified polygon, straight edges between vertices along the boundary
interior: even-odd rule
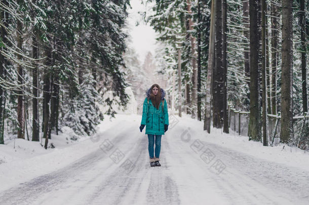
[[[135,49],[140,62],[143,63],[148,51],[152,55],[155,54],[156,33],[155,30],[141,20],[138,14],[139,11],[145,11],[145,6],[141,4],[141,0],[131,0],[130,4],[132,9],[128,10],[128,23],[132,43],[129,46]],[[136,26],[136,22],[139,22],[138,26]]]

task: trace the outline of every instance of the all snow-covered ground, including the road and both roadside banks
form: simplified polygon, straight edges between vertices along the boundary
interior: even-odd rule
[[[56,148],[0,146],[0,204],[307,204],[309,154],[203,131],[170,113],[161,167],[149,166],[141,115],[117,114],[95,136]],[[58,143],[57,143],[58,139]],[[62,144],[60,143],[62,142]],[[32,151],[34,150],[34,151]],[[18,193],[18,194],[16,194]]]

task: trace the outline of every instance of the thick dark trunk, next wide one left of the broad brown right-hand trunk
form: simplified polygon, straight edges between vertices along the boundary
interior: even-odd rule
[[[260,140],[258,2],[249,0],[250,14],[250,118],[249,140]]]

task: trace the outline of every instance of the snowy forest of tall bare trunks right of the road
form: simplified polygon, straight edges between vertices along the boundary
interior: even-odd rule
[[[161,67],[178,74],[179,116],[204,120],[208,133],[212,124],[264,146],[307,149],[308,4],[156,1],[143,15],[166,45]]]

